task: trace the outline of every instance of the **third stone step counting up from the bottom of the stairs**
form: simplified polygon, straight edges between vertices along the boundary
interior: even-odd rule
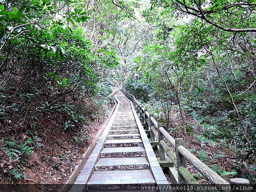
[[[103,148],[100,157],[145,157],[145,149],[142,146]]]

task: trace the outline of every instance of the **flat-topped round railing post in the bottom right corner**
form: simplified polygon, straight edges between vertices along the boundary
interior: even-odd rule
[[[230,179],[230,186],[232,192],[251,192],[250,181],[243,178]]]

